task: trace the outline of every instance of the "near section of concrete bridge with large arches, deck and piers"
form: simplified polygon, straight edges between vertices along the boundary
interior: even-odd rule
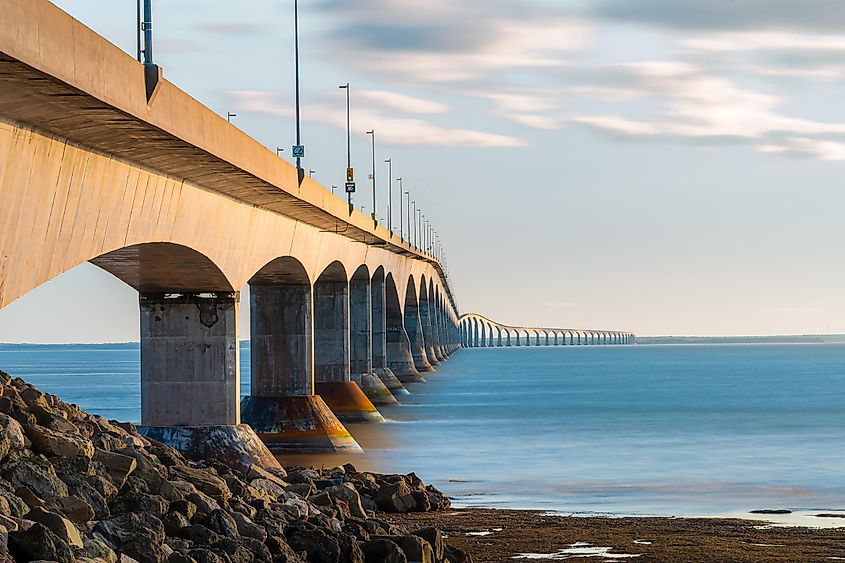
[[[0,309],[91,262],[138,291],[149,436],[244,463],[274,463],[252,428],[358,448],[343,422],[460,345],[441,264],[149,70],[47,0],[0,0]]]

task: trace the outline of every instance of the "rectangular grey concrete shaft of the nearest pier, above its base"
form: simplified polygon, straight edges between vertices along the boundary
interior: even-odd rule
[[[238,300],[141,294],[142,425],[240,423]]]

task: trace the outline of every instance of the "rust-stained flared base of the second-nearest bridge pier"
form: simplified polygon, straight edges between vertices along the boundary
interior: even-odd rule
[[[362,451],[318,395],[244,397],[241,417],[271,452]]]

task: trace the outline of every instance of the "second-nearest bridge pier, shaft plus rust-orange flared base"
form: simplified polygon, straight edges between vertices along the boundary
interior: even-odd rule
[[[243,419],[271,451],[360,450],[314,394],[311,285],[250,285],[250,395]]]

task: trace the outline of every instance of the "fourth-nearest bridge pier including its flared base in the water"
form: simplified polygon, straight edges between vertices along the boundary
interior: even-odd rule
[[[373,311],[370,274],[361,267],[349,282],[349,366],[351,379],[374,405],[399,401],[373,372]]]

